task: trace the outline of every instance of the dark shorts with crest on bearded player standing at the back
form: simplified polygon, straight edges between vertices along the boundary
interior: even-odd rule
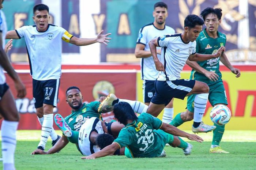
[[[144,103],[150,103],[155,94],[155,80],[143,80],[143,100]]]

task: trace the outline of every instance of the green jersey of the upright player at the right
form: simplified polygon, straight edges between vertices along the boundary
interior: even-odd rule
[[[207,34],[206,29],[204,29],[196,39],[196,53],[214,54],[218,51],[218,49],[221,46],[225,46],[226,35],[220,32],[217,32],[217,34],[218,34],[218,38],[211,38]],[[222,75],[221,75],[221,72],[219,71],[219,57],[212,58],[206,61],[197,61],[197,63],[207,71],[212,71],[217,73],[217,75],[219,76],[217,82],[222,81],[221,79]],[[192,69],[191,71],[190,79],[199,80],[201,82],[207,83],[208,85],[217,83],[217,82],[212,82],[205,75],[195,71],[194,69]]]

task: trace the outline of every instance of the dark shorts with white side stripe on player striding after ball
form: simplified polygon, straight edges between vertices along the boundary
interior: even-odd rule
[[[180,79],[155,81],[155,95],[151,102],[157,105],[167,105],[172,98],[184,99],[195,86],[195,80]]]

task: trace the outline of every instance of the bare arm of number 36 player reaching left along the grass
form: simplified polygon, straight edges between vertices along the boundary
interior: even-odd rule
[[[90,156],[84,156],[82,157],[82,159],[96,159],[96,158],[112,155],[118,149],[120,149],[120,146],[116,142],[113,142],[111,145],[103,148],[101,151],[91,154]]]

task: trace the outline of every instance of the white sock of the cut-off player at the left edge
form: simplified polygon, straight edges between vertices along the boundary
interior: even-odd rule
[[[1,126],[2,156],[4,170],[15,169],[14,152],[16,148],[16,130],[19,122],[3,120]]]

